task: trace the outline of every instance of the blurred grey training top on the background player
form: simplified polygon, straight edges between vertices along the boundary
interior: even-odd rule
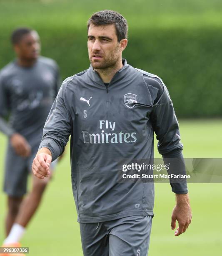
[[[7,64],[0,71],[0,131],[7,136],[20,133],[38,147],[59,87],[59,70],[52,59],[40,56],[32,67],[17,61]]]

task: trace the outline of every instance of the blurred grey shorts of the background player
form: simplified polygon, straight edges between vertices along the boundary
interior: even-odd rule
[[[10,143],[7,145],[5,159],[4,192],[12,197],[22,197],[27,192],[27,177],[32,172],[32,162],[38,151],[38,146],[32,147],[29,157],[18,156]],[[50,165],[55,168],[56,160]]]

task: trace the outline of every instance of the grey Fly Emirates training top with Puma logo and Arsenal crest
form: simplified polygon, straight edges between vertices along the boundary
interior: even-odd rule
[[[45,123],[40,148],[49,148],[52,160],[71,135],[72,190],[81,223],[153,215],[154,184],[117,182],[118,162],[153,158],[153,131],[160,154],[169,157],[183,147],[162,80],[125,59],[123,64],[108,87],[92,66],[65,79]],[[171,186],[187,193],[185,183]]]

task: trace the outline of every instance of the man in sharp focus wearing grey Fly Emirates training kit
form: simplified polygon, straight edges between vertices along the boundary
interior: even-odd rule
[[[71,135],[72,190],[85,256],[145,256],[153,216],[154,184],[118,182],[122,159],[152,159],[153,131],[164,158],[181,158],[177,118],[157,76],[135,69],[122,51],[127,21],[103,10],[87,25],[90,68],[65,79],[45,123],[32,164],[36,177],[50,175]],[[175,236],[191,221],[186,183],[171,183],[177,205]]]

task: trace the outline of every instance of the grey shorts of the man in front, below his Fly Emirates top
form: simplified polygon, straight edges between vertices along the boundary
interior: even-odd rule
[[[84,256],[147,256],[152,217],[80,223]]]

